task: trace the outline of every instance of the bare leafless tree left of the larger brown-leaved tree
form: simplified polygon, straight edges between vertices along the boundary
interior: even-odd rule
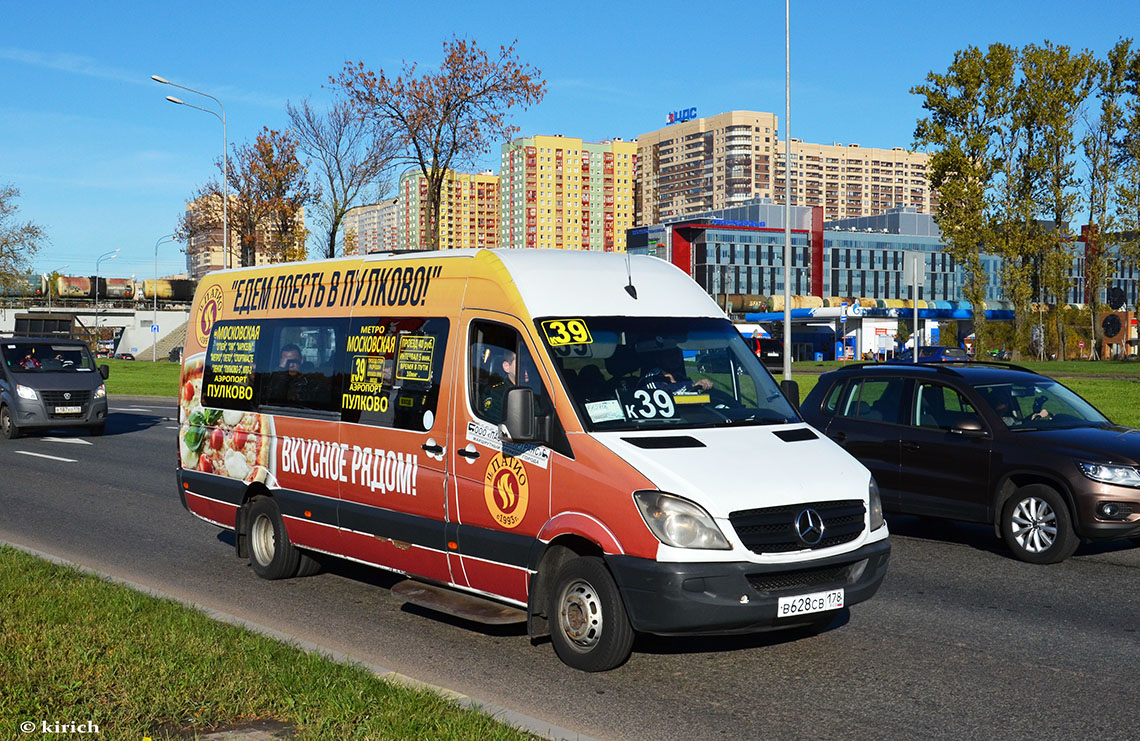
[[[391,127],[367,121],[344,98],[325,112],[309,100],[286,105],[298,147],[315,163],[311,173],[319,182],[320,197],[314,201],[317,220],[324,227],[324,256],[336,256],[336,235],[344,214],[377,186],[397,155]],[[378,195],[378,193],[377,193]]]

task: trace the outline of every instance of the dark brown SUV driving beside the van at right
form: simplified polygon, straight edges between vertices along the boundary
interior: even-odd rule
[[[1048,376],[858,364],[820,376],[800,409],[871,470],[887,511],[993,523],[1032,563],[1081,538],[1140,544],[1140,431]]]

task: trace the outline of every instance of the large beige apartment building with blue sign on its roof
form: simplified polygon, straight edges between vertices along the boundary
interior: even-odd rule
[[[791,139],[791,204],[828,220],[913,207],[933,213],[929,155]],[[730,111],[637,137],[637,225],[784,199],[784,144],[775,114]]]

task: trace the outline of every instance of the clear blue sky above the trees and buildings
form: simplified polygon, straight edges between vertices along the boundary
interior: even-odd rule
[[[285,128],[285,103],[328,100],[345,62],[396,71],[434,65],[453,35],[518,52],[543,72],[546,98],[514,115],[520,136],[630,139],[667,112],[752,109],[784,127],[783,2],[198,3],[17,2],[0,23],[0,184],[50,243],[41,271],[153,275],[155,242],[213,174],[221,125],[171,105],[152,74],[226,106],[230,142]],[[1140,34],[1129,1],[791,3],[791,136],[909,146],[921,115],[912,85],[953,52],[1044,40],[1104,55]],[[212,103],[198,99],[209,107]],[[497,170],[498,149],[486,166]],[[310,246],[314,243],[310,242]],[[185,269],[158,246],[162,275]]]

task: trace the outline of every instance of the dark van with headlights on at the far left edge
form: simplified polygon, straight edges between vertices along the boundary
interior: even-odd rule
[[[103,434],[108,374],[79,340],[0,337],[0,437],[76,426]]]

